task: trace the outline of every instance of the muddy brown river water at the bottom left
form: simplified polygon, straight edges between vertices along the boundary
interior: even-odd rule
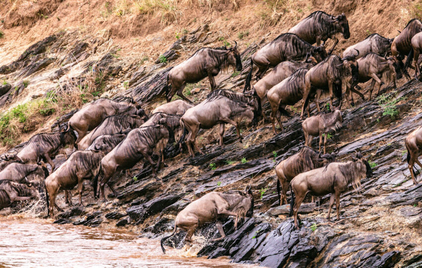
[[[186,247],[187,248],[187,247]],[[99,229],[48,220],[0,215],[2,267],[251,267],[228,259],[195,257],[190,249],[168,249],[158,240],[121,229]]]

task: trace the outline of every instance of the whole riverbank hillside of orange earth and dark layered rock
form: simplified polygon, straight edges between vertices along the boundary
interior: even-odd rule
[[[339,36],[336,55],[371,33],[393,38],[411,18],[422,18],[422,3],[405,0],[2,1],[0,152],[14,153],[32,135],[57,131],[75,109],[99,97],[133,97],[151,112],[166,102],[169,69],[204,46],[237,41],[243,70],[221,73],[216,82],[241,92],[250,56],[315,10],[347,15],[351,38]],[[338,147],[338,160],[347,161],[360,149],[374,176],[342,195],[338,224],[326,221],[329,196],[321,205],[302,205],[299,231],[288,217],[288,205],[278,207],[274,167],[303,145],[300,104],[288,108],[294,117],[284,118],[277,135],[265,121],[256,130],[242,126],[243,143],[226,125],[224,148],[217,145],[218,127],[203,131],[197,142],[205,156],[189,158],[187,150],[169,146],[168,167],[158,173],[159,180],[141,161],[121,173],[115,182],[119,195],[107,192],[106,203],[93,201],[86,181],[88,206],[69,207],[62,193],[58,204],[66,211],[55,222],[118,226],[157,239],[172,231],[177,211],[190,201],[210,191],[252,185],[254,217],[236,231],[228,220],[226,239],[195,244],[198,256],[230,256],[234,262],[268,267],[420,267],[422,187],[410,179],[404,138],[421,124],[422,83],[403,78],[398,86],[383,87],[382,98],[343,106],[343,128],[329,140],[328,151]],[[196,104],[209,92],[208,79],[184,90]],[[64,161],[63,155],[54,160],[56,166]],[[78,204],[76,196],[73,203]],[[31,210],[40,217],[44,211],[44,206]],[[181,246],[183,235],[168,245]],[[199,236],[206,241],[217,236],[215,226]]]

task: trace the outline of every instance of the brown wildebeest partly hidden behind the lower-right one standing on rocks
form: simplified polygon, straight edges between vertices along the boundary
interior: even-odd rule
[[[331,154],[327,153],[321,155],[321,153],[314,151],[308,146],[303,146],[299,151],[287,159],[282,160],[276,166],[277,174],[277,194],[279,196],[280,205],[283,201],[287,204],[287,189],[290,186],[290,181],[298,174],[320,168],[328,163],[336,161],[336,150]],[[280,196],[280,184],[281,184],[281,196]]]

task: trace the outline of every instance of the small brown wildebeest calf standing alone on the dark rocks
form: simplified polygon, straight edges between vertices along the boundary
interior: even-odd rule
[[[319,135],[319,148],[318,151],[321,151],[322,136],[324,134],[324,154],[325,154],[325,144],[327,143],[327,133],[332,130],[337,130],[342,127],[343,118],[342,112],[339,107],[335,107],[334,111],[331,113],[320,113],[316,116],[311,116],[307,118],[302,123],[303,134],[305,135],[305,145],[312,147],[312,139],[314,136]]]

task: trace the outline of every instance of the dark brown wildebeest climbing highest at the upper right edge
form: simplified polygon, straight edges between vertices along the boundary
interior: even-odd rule
[[[412,19],[391,44],[391,55],[398,57],[401,63],[405,56],[408,56],[402,70],[407,78],[410,78],[407,68],[411,66],[413,60],[412,37],[419,32],[422,32],[422,21],[416,18]]]

